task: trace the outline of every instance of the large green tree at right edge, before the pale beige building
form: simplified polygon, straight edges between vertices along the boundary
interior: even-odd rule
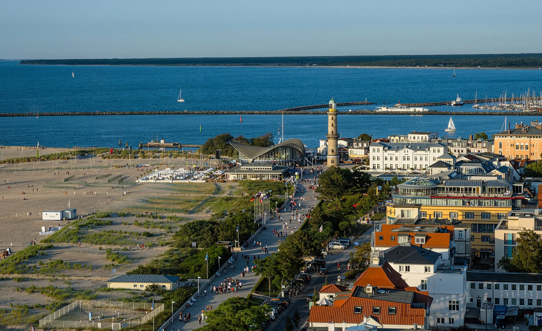
[[[518,233],[517,246],[512,258],[503,256],[497,267],[507,272],[542,273],[542,240],[533,230],[524,229]]]

